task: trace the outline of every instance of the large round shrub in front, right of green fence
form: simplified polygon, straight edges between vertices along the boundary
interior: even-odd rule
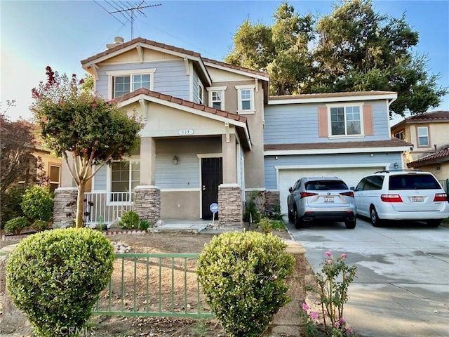
[[[290,301],[286,277],[294,258],[279,237],[228,232],[205,246],[196,270],[206,302],[230,337],[261,336]]]

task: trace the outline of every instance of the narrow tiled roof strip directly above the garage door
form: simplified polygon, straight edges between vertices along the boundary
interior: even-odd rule
[[[364,147],[400,147],[413,146],[397,138],[389,140],[373,140],[363,142],[327,142],[327,143],[298,143],[298,144],[266,144],[265,151],[288,151],[288,150],[324,150],[324,149],[348,149],[348,148],[364,148]]]

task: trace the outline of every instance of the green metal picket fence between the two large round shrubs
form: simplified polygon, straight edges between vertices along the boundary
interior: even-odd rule
[[[213,317],[196,277],[196,253],[119,253],[94,315]]]

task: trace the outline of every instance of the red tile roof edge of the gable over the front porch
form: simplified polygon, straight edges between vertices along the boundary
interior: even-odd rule
[[[163,93],[158,93],[156,91],[151,91],[146,88],[139,88],[138,90],[132,91],[130,93],[126,93],[118,98],[116,98],[116,102],[121,103],[125,100],[129,100],[130,98],[134,98],[138,95],[147,95],[154,98],[159,98],[161,100],[165,100],[166,102],[175,103],[177,105],[181,105],[183,107],[192,107],[196,110],[201,110],[203,112],[208,112],[210,114],[215,114],[217,116],[225,117],[228,119],[233,119],[234,121],[240,121],[241,123],[246,124],[246,117],[241,116],[239,114],[233,114],[232,112],[227,112],[224,110],[215,109],[215,107],[208,107],[206,105],[198,104],[191,102],[189,100],[182,100],[181,98],[176,98],[170,95],[166,95]]]

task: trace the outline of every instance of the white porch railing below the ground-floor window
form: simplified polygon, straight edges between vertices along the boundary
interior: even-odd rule
[[[84,193],[83,219],[85,225],[111,224],[133,210],[134,192]]]

